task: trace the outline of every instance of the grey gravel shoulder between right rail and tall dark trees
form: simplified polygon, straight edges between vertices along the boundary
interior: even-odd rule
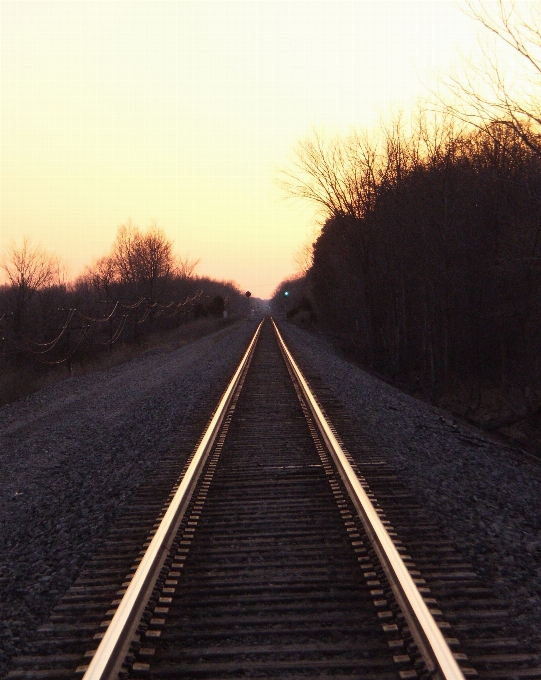
[[[372,438],[507,600],[518,639],[541,652],[541,461],[363,371],[323,336],[279,327],[307,378],[317,375]]]

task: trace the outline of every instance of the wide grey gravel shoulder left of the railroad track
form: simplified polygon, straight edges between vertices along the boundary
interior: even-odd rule
[[[190,418],[210,417],[255,328],[242,321],[0,409],[0,676]]]

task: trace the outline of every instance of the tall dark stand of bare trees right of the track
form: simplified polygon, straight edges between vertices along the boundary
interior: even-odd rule
[[[509,14],[477,17],[535,59],[531,26],[528,45]],[[539,425],[541,118],[492,75],[498,98],[470,78],[460,107],[298,144],[282,185],[316,203],[323,226],[306,271],[273,303],[436,402],[460,385],[467,410],[494,388],[506,422]]]

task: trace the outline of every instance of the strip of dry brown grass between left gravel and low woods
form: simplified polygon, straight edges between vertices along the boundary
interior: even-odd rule
[[[198,319],[171,331],[152,333],[141,338],[137,344],[118,344],[113,347],[111,353],[73,362],[71,374],[66,364],[60,364],[50,370],[30,364],[18,367],[3,365],[0,372],[0,406],[24,399],[34,392],[70,377],[103,371],[149,352],[170,352],[226,326],[239,324],[242,320],[243,317],[240,316],[229,319]]]

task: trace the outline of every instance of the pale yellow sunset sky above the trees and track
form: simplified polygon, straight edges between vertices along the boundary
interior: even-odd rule
[[[0,1],[0,248],[73,278],[155,223],[270,297],[317,224],[276,181],[296,142],[407,109],[477,31],[438,0]]]

